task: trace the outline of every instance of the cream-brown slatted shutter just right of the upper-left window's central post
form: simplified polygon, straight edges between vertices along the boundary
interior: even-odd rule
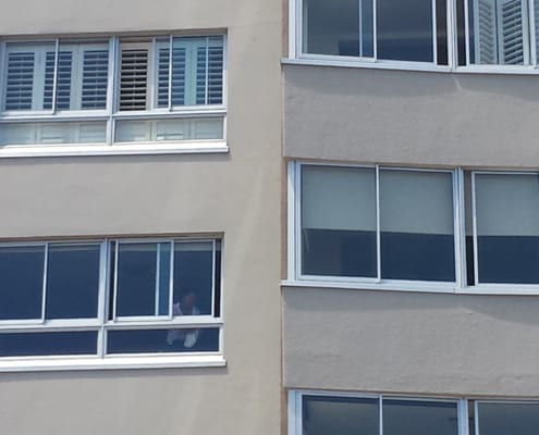
[[[146,110],[148,49],[123,49],[120,67],[120,110]]]

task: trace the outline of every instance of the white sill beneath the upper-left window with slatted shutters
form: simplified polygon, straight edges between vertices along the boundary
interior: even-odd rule
[[[224,140],[115,145],[40,145],[0,147],[0,159],[21,157],[140,156],[229,152]]]

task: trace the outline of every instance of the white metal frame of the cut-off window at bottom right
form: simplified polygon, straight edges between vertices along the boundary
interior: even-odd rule
[[[474,430],[475,435],[479,433],[479,405],[480,403],[500,403],[500,405],[538,405],[539,400],[522,400],[518,398],[497,398],[497,399],[473,399],[463,397],[428,397],[425,395],[395,395],[395,394],[363,394],[363,393],[343,393],[343,391],[320,391],[306,389],[291,389],[287,393],[287,428],[289,435],[304,435],[303,431],[303,398],[327,397],[327,398],[354,398],[371,399],[378,401],[379,412],[379,435],[383,435],[383,401],[402,400],[402,401],[425,401],[438,403],[455,403],[457,412],[458,435],[469,435],[469,405],[474,406]]]

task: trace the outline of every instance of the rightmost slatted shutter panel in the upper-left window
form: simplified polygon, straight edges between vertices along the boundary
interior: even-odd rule
[[[221,104],[223,96],[223,48],[198,47],[196,103]]]

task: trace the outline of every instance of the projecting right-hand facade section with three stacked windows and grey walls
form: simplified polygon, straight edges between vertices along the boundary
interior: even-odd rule
[[[289,435],[537,432],[538,8],[290,2]]]

